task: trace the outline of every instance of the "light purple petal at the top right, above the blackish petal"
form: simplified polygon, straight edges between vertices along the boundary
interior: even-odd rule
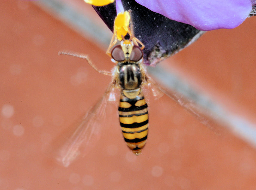
[[[135,0],[169,19],[199,30],[234,28],[252,10],[251,0]]]

